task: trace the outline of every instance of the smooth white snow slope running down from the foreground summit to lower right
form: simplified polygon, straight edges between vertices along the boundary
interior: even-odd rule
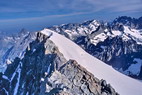
[[[54,31],[44,29],[41,33],[47,36],[52,33],[50,40],[56,44],[67,60],[74,59],[95,77],[105,79],[120,95],[142,95],[142,82],[119,73]]]

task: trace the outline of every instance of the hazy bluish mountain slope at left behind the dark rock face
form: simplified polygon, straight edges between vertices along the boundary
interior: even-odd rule
[[[36,33],[22,30],[17,35],[5,36],[0,39],[0,72],[4,72],[7,64],[16,58],[23,58],[30,42],[36,39]]]

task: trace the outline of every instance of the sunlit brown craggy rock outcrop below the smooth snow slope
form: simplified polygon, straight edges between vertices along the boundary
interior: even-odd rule
[[[60,92],[57,95],[118,95],[105,80],[95,78],[74,60],[52,73],[48,80],[53,87],[49,86],[47,91],[56,87]],[[53,93],[50,91],[49,94]]]

